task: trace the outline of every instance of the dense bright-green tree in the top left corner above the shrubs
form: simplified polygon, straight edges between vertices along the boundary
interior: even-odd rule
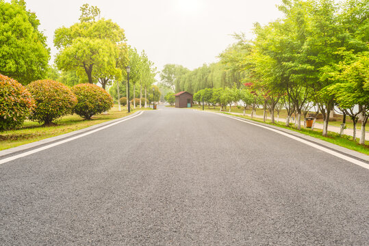
[[[38,30],[36,14],[27,11],[21,0],[0,0],[0,10],[0,74],[23,85],[43,79],[50,51],[46,37]]]

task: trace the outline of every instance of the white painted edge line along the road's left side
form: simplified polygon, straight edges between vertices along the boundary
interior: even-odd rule
[[[16,154],[15,156],[10,156],[10,157],[8,157],[8,158],[5,158],[5,159],[0,160],[0,165],[1,165],[1,164],[3,164],[3,163],[7,163],[7,162],[9,162],[9,161],[14,161],[14,160],[16,160],[16,159],[19,159],[19,158],[21,158],[21,157],[27,156],[27,155],[29,155],[29,154],[34,154],[34,153],[36,153],[36,152],[40,152],[40,151],[42,151],[42,150],[47,150],[48,148],[53,148],[53,147],[58,146],[58,145],[60,145],[60,144],[62,144],[62,143],[67,143],[68,141],[73,141],[73,140],[75,140],[75,139],[79,139],[80,137],[84,137],[84,136],[90,135],[90,134],[92,134],[92,133],[96,133],[96,132],[101,131],[101,130],[103,130],[103,129],[105,129],[105,128],[108,128],[108,127],[110,127],[110,126],[114,126],[114,125],[119,124],[119,123],[121,123],[121,122],[125,122],[126,120],[131,120],[131,119],[133,119],[133,118],[136,118],[137,116],[142,115],[142,113],[144,113],[144,111],[141,111],[141,112],[140,112],[140,113],[138,113],[137,115],[134,115],[134,116],[132,116],[132,117],[130,117],[130,118],[123,119],[123,120],[119,120],[119,121],[117,121],[117,122],[114,122],[114,123],[112,123],[112,124],[108,124],[107,126],[102,126],[101,128],[97,128],[97,129],[92,130],[92,131],[89,131],[89,132],[87,132],[87,133],[83,133],[83,134],[78,135],[78,136],[75,136],[75,137],[70,137],[70,138],[68,138],[68,139],[64,139],[64,140],[62,140],[62,141],[58,141],[58,142],[56,142],[56,143],[51,143],[51,144],[49,144],[49,145],[47,145],[47,146],[42,146],[42,147],[40,147],[40,148],[36,148],[36,149],[34,149],[34,150],[29,150],[29,151],[24,152],[24,153],[21,153],[21,154]]]

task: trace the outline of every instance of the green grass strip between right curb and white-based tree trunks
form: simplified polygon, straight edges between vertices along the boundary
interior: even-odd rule
[[[366,144],[361,145],[361,144],[359,144],[359,139],[357,139],[357,141],[354,142],[353,137],[348,136],[348,135],[344,135],[344,136],[340,137],[340,135],[338,133],[333,133],[333,132],[329,131],[328,132],[328,137],[323,137],[322,136],[322,130],[320,130],[320,129],[314,129],[314,131],[311,131],[309,128],[301,128],[301,130],[297,130],[293,126],[285,126],[284,122],[272,124],[270,122],[270,120],[268,120],[267,122],[263,122],[262,120],[257,120],[255,118],[251,119],[248,116],[235,115],[235,114],[226,113],[226,112],[223,112],[223,113],[228,114],[228,115],[238,116],[240,118],[246,118],[246,119],[249,119],[249,120],[253,120],[255,122],[262,122],[262,123],[270,124],[270,125],[273,125],[273,126],[279,126],[281,128],[286,128],[286,129],[289,129],[289,130],[292,130],[292,131],[296,131],[298,133],[303,133],[305,135],[309,135],[311,137],[316,137],[318,139],[322,139],[322,140],[327,141],[329,143],[337,144],[338,146],[342,146],[342,147],[348,148],[350,150],[355,150],[357,152],[361,152],[361,153],[364,153],[364,154],[369,154],[369,141],[365,141]]]

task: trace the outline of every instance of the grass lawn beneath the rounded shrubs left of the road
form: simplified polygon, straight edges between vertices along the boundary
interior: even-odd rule
[[[150,110],[149,108],[141,108],[142,110]],[[131,113],[140,110],[131,110]],[[88,126],[93,126],[109,120],[122,118],[131,113],[127,113],[127,107],[122,107],[122,111],[118,111],[118,105],[114,105],[106,115],[94,115],[92,120],[84,120],[79,115],[66,115],[55,121],[55,126],[42,126],[37,122],[26,120],[23,126],[10,131],[0,132],[0,150],[21,146],[25,143],[31,143],[46,139],[48,137],[55,137],[71,131],[77,131]]]

